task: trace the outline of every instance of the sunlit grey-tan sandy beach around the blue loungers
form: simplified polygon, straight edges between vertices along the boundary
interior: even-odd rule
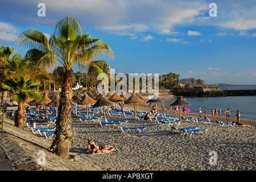
[[[145,100],[147,101],[146,96]],[[162,100],[170,98],[160,94]],[[127,96],[128,98],[128,96]],[[126,109],[133,110],[133,105],[126,104]],[[158,106],[158,108],[161,105]],[[139,104],[139,111],[150,111],[149,104]],[[159,109],[158,112],[166,112]],[[101,113],[95,113],[100,115]],[[174,114],[170,111],[171,115]],[[187,117],[198,117],[187,113]],[[80,122],[79,117],[72,117],[72,137],[75,143],[70,146],[70,159],[62,159],[47,150],[53,138],[46,139],[33,134],[29,128],[19,130],[13,126],[14,118],[5,119],[6,141],[17,144],[26,152],[40,170],[46,171],[254,171],[255,163],[255,121],[242,119],[241,122],[254,127],[219,126],[206,123],[181,121],[178,127],[198,127],[207,129],[205,135],[182,136],[173,133],[171,127],[160,126],[150,121],[138,121],[123,116],[109,116],[113,120],[128,122],[126,127],[147,127],[142,133],[123,133],[118,126],[102,127],[99,122]],[[216,118],[211,118],[216,120]],[[218,120],[225,122],[226,118]],[[235,118],[231,118],[231,121]],[[54,126],[54,124],[51,124]],[[87,141],[117,147],[119,151],[109,154],[86,154]],[[8,142],[0,142],[7,157],[13,161]],[[38,152],[45,152],[45,163],[41,163]],[[213,152],[217,156],[215,164],[210,163]],[[17,155],[19,155],[17,153]],[[14,166],[17,164],[13,164]]]

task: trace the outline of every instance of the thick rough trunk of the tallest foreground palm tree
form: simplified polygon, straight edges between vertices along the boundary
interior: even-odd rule
[[[56,137],[50,147],[50,149],[53,149],[54,154],[65,159],[69,158],[69,146],[73,143],[73,138],[70,136],[72,94],[70,69],[66,69],[62,83],[61,98],[59,99]]]

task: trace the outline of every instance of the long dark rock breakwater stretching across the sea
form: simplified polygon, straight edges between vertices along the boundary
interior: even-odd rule
[[[210,92],[202,92],[202,91],[191,91],[187,92],[187,90],[172,90],[171,92],[175,96],[183,96],[183,97],[226,97],[226,96],[256,96],[256,90],[223,90],[223,91],[210,91]]]

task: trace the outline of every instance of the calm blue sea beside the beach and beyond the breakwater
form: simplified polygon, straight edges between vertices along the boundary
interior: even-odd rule
[[[220,86],[220,89],[256,90],[256,85]],[[170,103],[173,103],[176,99],[177,98],[171,98],[165,100],[163,105],[165,108],[170,108]],[[256,120],[256,96],[186,97],[186,101],[191,104],[186,106],[187,109],[190,109],[191,113],[198,113],[198,109],[201,107],[202,113],[204,113],[204,110],[206,109],[207,115],[211,115],[211,109],[221,108],[221,115],[225,116],[224,112],[227,108],[230,108],[230,117],[235,117],[237,110],[239,110],[241,113],[241,122],[243,118]],[[174,110],[174,107],[171,109]]]

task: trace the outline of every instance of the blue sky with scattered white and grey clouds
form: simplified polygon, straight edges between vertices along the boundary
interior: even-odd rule
[[[255,0],[1,0],[0,45],[25,56],[28,49],[17,43],[22,32],[50,37],[67,15],[113,49],[114,59],[105,61],[115,73],[256,84]]]

